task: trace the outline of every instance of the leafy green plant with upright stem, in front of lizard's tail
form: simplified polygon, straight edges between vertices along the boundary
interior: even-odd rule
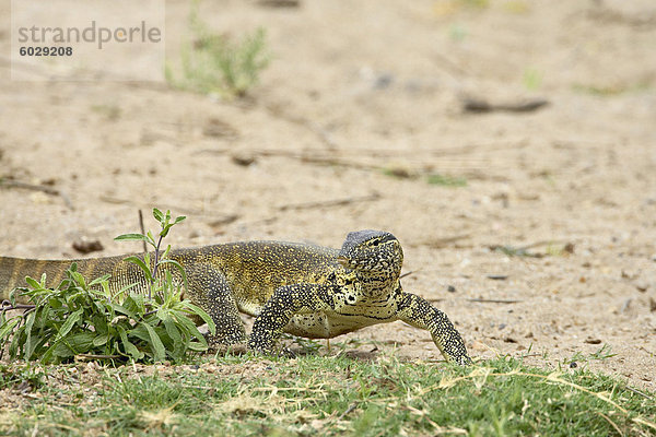
[[[116,361],[127,359],[184,362],[190,353],[204,351],[208,344],[196,324],[187,316],[195,315],[208,322],[211,333],[215,327],[199,307],[183,299],[186,284],[184,269],[167,258],[171,246],[162,253],[160,246],[172,226],[185,217],[171,221],[154,209],[160,222],[159,239],[147,235],[127,234],[119,240],[145,240],[154,247],[154,261],[149,253],[128,257],[147,279],[149,294],[136,291],[131,284],[112,290],[109,275],[89,282],[73,263],[66,279],[55,288],[46,286],[46,275],[39,281],[27,277],[28,287],[10,294],[10,307],[0,311],[0,349],[9,342],[9,355],[25,361],[60,363],[78,358]],[[179,271],[175,281],[169,267]],[[7,318],[7,310],[16,307],[16,297],[23,296],[30,305],[26,311]]]

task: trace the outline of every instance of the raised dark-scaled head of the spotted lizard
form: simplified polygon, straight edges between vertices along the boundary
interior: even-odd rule
[[[398,277],[403,263],[399,240],[388,232],[358,231],[347,235],[337,261],[362,273],[390,274]]]

